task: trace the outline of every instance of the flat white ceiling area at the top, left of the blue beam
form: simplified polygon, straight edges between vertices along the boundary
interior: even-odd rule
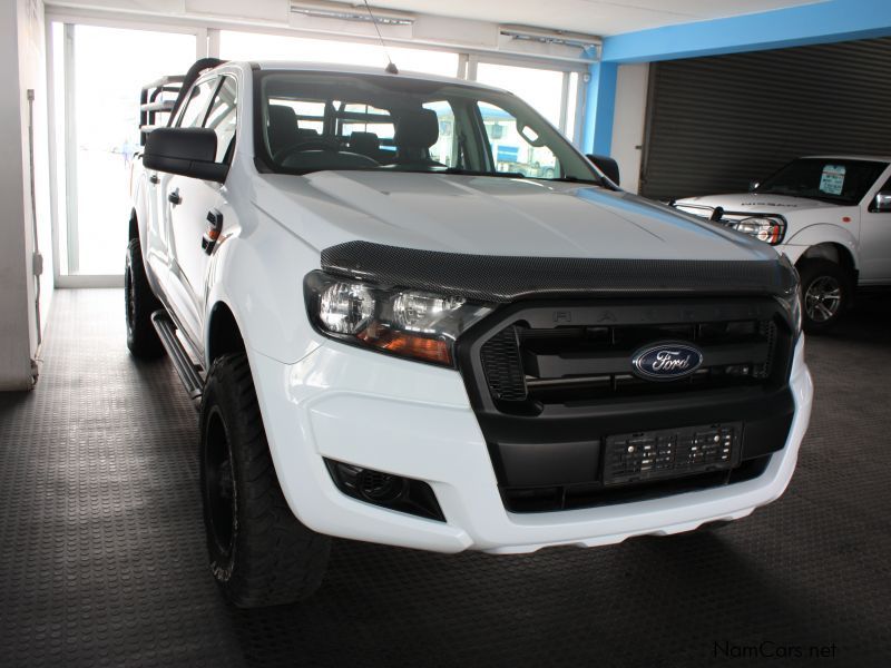
[[[349,2],[356,3],[360,2]],[[386,9],[601,36],[814,3],[814,0],[371,0],[373,7]]]

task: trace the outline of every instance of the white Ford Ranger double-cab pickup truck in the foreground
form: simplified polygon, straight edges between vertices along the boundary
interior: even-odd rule
[[[221,61],[153,86],[127,342],[199,405],[235,605],[311,595],[331,537],[593,547],[785,490],[812,383],[774,248],[623,191],[495,88]]]

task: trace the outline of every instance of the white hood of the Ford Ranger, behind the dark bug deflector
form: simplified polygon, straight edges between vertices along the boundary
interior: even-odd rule
[[[395,171],[263,175],[254,204],[311,246],[493,256],[773,259],[745,235],[595,186]]]

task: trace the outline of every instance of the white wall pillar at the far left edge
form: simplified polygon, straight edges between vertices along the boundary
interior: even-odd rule
[[[52,298],[52,250],[47,149],[47,77],[42,0],[0,3],[0,390],[32,386],[38,356],[32,274],[27,90],[35,90],[35,177],[38,238],[45,258],[41,328]]]

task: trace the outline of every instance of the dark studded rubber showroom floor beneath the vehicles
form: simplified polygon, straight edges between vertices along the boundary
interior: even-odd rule
[[[889,303],[809,341],[799,471],[751,518],[520,557],[339,541],[311,601],[244,611],[205,564],[196,415],[170,364],[130,358],[119,291],[58,291],[37,390],[0,394],[0,665],[674,667],[761,646],[812,666],[815,646],[880,666]]]

